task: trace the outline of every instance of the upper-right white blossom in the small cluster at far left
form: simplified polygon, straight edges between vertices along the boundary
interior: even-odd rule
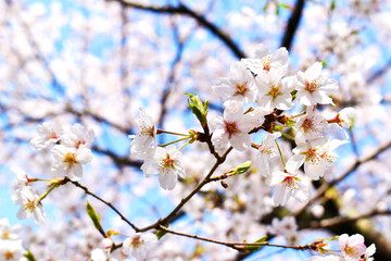
[[[78,123],[65,130],[61,135],[61,144],[70,148],[89,148],[93,141],[94,133],[92,129],[87,129]]]

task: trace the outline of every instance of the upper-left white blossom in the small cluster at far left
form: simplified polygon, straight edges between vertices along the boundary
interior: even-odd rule
[[[45,122],[37,126],[37,134],[30,140],[30,145],[35,150],[42,150],[49,148],[60,140],[60,133],[51,123]]]

